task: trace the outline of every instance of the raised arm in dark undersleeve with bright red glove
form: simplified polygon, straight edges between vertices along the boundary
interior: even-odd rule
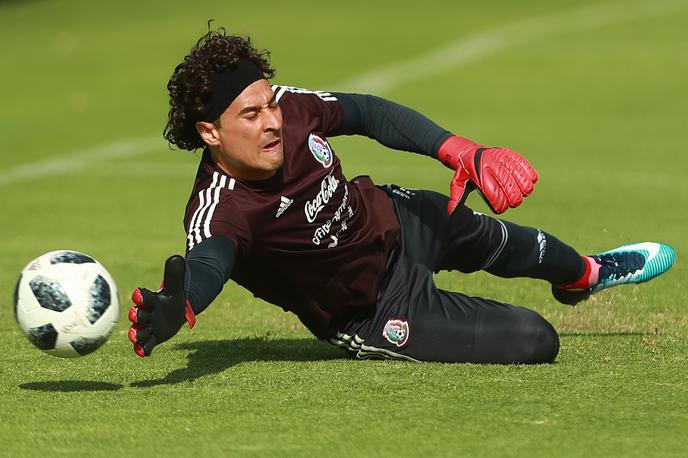
[[[422,114],[380,97],[334,95],[344,107],[344,122],[331,135],[365,135],[389,148],[434,157],[455,170],[449,185],[449,213],[473,189],[495,213],[519,206],[533,192],[537,172],[515,151],[453,135]]]

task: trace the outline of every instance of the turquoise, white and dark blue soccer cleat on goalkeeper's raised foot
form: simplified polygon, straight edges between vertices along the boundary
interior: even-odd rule
[[[567,290],[552,285],[552,295],[556,300],[576,305],[591,294],[612,286],[646,282],[669,270],[676,254],[664,243],[641,242],[622,245],[591,257],[600,265],[597,283],[583,290]]]

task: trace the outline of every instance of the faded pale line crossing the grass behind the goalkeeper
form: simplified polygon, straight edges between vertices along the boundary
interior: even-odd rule
[[[331,90],[384,94],[412,81],[456,69],[499,51],[547,36],[620,24],[638,18],[662,16],[686,6],[688,5],[684,1],[635,5],[613,2],[500,25],[478,35],[448,43],[416,58],[365,72],[333,85]],[[0,171],[0,188],[85,167],[93,161],[122,159],[152,152],[163,145],[164,142],[158,137],[132,138],[72,152],[56,159],[17,166]]]

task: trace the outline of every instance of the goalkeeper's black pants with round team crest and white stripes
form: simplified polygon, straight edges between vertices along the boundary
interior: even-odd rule
[[[374,308],[361,310],[331,339],[356,358],[472,363],[547,363],[559,338],[538,313],[438,289],[440,270],[486,270],[501,277],[570,283],[580,255],[543,231],[474,213],[432,191],[383,187],[401,223]]]

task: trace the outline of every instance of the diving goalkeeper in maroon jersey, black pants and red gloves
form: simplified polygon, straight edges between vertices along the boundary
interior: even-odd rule
[[[203,155],[184,216],[186,255],[167,260],[159,291],[132,296],[139,356],[193,326],[231,279],[355,358],[547,363],[559,339],[542,316],[438,289],[433,272],[541,279],[574,305],[671,267],[664,244],[581,256],[548,232],[473,212],[473,189],[494,213],[520,205],[535,169],[388,100],[271,85],[267,57],[210,31],[168,83],[165,138]],[[441,161],[455,171],[449,197],[347,179],[327,140],[339,135]]]

